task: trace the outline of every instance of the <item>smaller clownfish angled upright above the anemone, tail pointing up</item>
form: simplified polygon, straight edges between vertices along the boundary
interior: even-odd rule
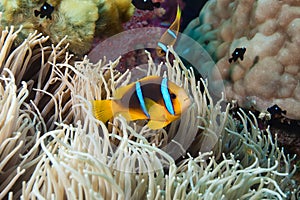
[[[168,30],[161,36],[157,43],[156,54],[160,57],[166,55],[167,46],[174,45],[177,40],[177,35],[180,28],[181,10],[179,5],[177,6],[177,14],[174,22],[168,28]]]

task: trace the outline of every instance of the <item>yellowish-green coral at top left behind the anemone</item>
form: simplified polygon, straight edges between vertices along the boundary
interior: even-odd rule
[[[53,11],[43,17],[36,15],[47,3]],[[47,10],[47,9],[46,9]],[[106,37],[122,30],[134,7],[131,0],[1,0],[1,26],[23,25],[19,43],[28,33],[38,30],[58,44],[66,35],[65,43],[77,55],[85,54],[94,36]]]

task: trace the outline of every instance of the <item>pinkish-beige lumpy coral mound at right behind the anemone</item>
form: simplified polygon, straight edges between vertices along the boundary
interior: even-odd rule
[[[300,119],[300,1],[211,0],[184,31],[210,53],[227,99]],[[243,60],[229,63],[236,48]]]

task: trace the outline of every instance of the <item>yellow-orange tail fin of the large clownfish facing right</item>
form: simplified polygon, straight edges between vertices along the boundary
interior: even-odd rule
[[[92,104],[93,114],[98,120],[105,123],[113,117],[112,100],[95,100]]]

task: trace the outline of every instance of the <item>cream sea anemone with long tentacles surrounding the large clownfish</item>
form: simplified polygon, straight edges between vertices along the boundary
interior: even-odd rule
[[[276,138],[242,110],[240,121],[229,106],[222,111],[174,51],[173,62],[158,66],[149,56],[141,73],[167,76],[193,105],[153,131],[145,121],[103,124],[92,115],[90,100],[137,79],[115,71],[118,60],[74,62],[37,34],[10,52],[19,31],[3,30],[1,39],[1,198],[299,198],[292,158]]]

